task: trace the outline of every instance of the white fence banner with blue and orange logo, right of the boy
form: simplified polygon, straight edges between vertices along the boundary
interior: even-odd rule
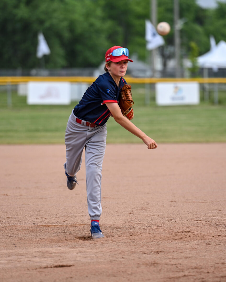
[[[155,84],[156,103],[168,105],[197,105],[200,102],[197,82],[160,82]]]

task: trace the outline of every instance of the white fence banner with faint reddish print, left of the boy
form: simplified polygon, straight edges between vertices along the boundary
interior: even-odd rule
[[[69,105],[71,85],[69,82],[29,82],[27,103],[29,105]]]

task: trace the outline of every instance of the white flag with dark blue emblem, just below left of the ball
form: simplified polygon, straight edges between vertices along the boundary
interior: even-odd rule
[[[164,39],[158,34],[149,20],[145,20],[145,39],[147,41],[147,50],[152,50],[165,44]]]

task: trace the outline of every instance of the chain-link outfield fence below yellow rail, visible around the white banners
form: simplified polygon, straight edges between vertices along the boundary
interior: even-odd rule
[[[72,82],[71,103],[81,100],[83,93],[92,82]],[[132,95],[136,96],[136,103],[140,105],[156,105],[155,83],[130,83]],[[226,83],[200,83],[199,95],[201,104],[226,105]],[[0,107],[19,106],[27,103],[27,83],[0,82]]]

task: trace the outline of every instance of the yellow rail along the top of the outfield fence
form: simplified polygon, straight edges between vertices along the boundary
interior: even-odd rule
[[[92,83],[96,77],[90,76],[1,76],[0,85],[27,83],[29,81],[87,82]],[[157,82],[199,82],[226,83],[226,78],[133,78],[125,77],[127,83],[157,83]]]

